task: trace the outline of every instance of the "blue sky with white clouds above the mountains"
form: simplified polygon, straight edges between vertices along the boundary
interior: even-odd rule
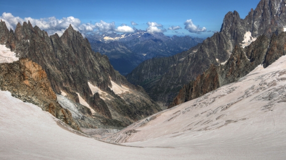
[[[224,15],[244,18],[260,0],[0,0],[0,18],[15,29],[30,20],[48,34],[71,23],[84,34],[163,32],[167,36],[209,37],[219,31]]]

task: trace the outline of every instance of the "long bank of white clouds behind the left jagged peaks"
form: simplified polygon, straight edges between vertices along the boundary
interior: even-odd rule
[[[0,18],[6,22],[7,27],[15,30],[18,22],[23,24],[24,21],[30,21],[33,26],[37,25],[41,29],[47,31],[49,35],[59,34],[61,36],[66,28],[71,24],[75,30],[80,31],[84,34],[88,32],[93,33],[114,33],[114,32],[134,32],[130,26],[122,25],[116,28],[115,22],[105,22],[100,20],[100,22],[96,22],[95,24],[91,23],[81,23],[79,18],[75,18],[73,16],[63,17],[62,19],[57,19],[56,17],[48,17],[48,18],[40,18],[34,19],[32,17],[20,18],[19,16],[14,16],[12,13],[4,12]]]

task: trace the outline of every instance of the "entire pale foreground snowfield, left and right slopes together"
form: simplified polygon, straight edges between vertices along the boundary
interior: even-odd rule
[[[0,90],[0,159],[285,159],[286,56],[106,140]]]

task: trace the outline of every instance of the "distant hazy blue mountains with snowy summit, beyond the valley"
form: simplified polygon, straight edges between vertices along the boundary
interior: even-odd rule
[[[163,33],[134,33],[86,35],[95,52],[107,55],[114,69],[122,75],[130,73],[142,61],[166,57],[188,50],[203,41],[190,36],[166,36]]]

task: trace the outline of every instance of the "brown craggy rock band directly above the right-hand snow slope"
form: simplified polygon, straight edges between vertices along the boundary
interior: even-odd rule
[[[263,67],[267,67],[285,54],[286,32],[281,32],[277,36],[273,34],[270,39],[265,35],[261,35],[245,48],[236,45],[225,64],[211,65],[202,75],[184,85],[169,108],[200,97],[223,85],[235,82],[258,65],[261,64]]]

